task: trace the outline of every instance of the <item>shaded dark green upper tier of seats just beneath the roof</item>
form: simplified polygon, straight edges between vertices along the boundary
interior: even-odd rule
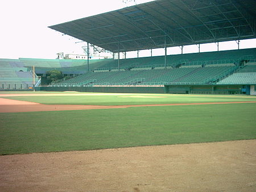
[[[205,66],[234,66],[241,60],[250,60],[256,58],[256,49],[238,49],[229,51],[188,53],[182,55],[168,55],[167,66],[175,67],[182,64],[182,67],[195,65],[195,67]],[[133,59],[122,59],[119,62],[119,69],[129,68],[154,68],[164,66],[164,56],[140,57]],[[118,68],[118,60],[106,62],[101,68],[108,70]]]

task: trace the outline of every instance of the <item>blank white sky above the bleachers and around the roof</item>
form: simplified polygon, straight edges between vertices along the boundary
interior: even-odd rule
[[[48,26],[126,6],[122,0],[1,0],[0,5],[0,58],[7,59],[55,59],[59,52],[82,54],[84,44]],[[247,44],[255,46],[256,40]]]

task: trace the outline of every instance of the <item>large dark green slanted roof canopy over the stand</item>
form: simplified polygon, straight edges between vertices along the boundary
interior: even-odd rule
[[[255,38],[255,0],[157,0],[50,26],[112,52]]]

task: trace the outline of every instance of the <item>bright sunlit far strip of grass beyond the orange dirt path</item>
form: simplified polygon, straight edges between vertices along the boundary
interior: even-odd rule
[[[135,97],[135,98],[134,98]],[[142,97],[142,98],[136,98]],[[143,98],[157,97],[157,98]],[[162,98],[163,97],[163,98]],[[236,95],[173,95],[173,94],[124,94],[124,95],[54,95],[44,97],[19,96],[4,97],[20,101],[37,102],[46,105],[150,105],[167,103],[208,103],[208,102],[240,102],[256,101],[254,96]]]

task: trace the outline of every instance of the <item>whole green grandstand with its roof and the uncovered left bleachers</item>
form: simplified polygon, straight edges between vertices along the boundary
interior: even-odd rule
[[[158,0],[56,24],[49,28],[111,51],[113,59],[0,59],[0,89],[28,89],[35,66],[37,90],[255,95],[256,48],[239,47],[256,38],[255,7],[253,0]],[[200,44],[222,41],[238,49],[200,52]],[[185,45],[198,53],[183,53]],[[169,47],[181,54],[167,55]],[[163,56],[120,57],[157,48]],[[52,69],[63,79],[46,85]]]

